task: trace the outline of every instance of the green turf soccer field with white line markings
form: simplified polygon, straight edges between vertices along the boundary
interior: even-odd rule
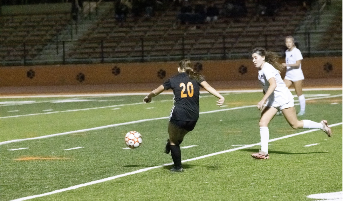
[[[1,98],[0,200],[312,201],[341,192],[342,89],[304,92],[299,119],[328,120],[331,138],[276,116],[263,161],[250,157],[260,148],[260,91],[223,92],[222,107],[201,94],[199,121],[181,144],[182,173],[169,172],[163,152],[171,94],[150,104],[145,95]],[[139,148],[123,149],[128,131],[142,134]]]

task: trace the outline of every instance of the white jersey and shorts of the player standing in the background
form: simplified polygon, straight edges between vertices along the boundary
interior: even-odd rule
[[[303,59],[303,55],[301,55],[298,48],[293,48],[292,51],[286,50],[286,64],[295,64],[296,61],[301,59]],[[303,71],[301,70],[301,64],[299,68],[287,66],[285,79],[293,82],[305,79]]]

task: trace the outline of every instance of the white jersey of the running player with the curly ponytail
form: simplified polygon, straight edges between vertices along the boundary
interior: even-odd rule
[[[277,71],[271,64],[264,63],[263,68],[258,72],[258,79],[263,86],[264,92],[267,92],[269,88],[268,80],[275,78],[276,88],[274,92],[268,97],[267,104],[272,107],[279,107],[290,102],[293,99],[291,91],[286,87],[283,82],[279,71]]]

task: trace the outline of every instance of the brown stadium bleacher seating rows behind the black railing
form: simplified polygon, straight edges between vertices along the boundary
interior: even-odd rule
[[[221,9],[222,0],[215,1]],[[85,33],[69,42],[66,60],[168,61],[189,58],[235,58],[248,55],[255,46],[284,51],[284,37],[292,35],[308,12],[299,5],[287,5],[275,17],[257,17],[255,3],[247,1],[247,15],[238,20],[220,16],[214,24],[175,26],[177,11],[157,11],[149,20],[135,20],[129,14],[124,26],[114,17],[114,8],[88,25]],[[341,11],[342,12],[342,11]],[[337,13],[324,34],[320,50],[341,50],[342,13]],[[70,13],[0,16],[0,63],[32,60],[71,24]],[[329,41],[329,42],[328,42]],[[56,42],[55,42],[56,43]],[[112,59],[112,60],[111,60]],[[79,61],[79,62],[77,62]]]

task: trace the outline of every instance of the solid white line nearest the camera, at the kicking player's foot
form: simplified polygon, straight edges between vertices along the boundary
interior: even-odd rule
[[[342,123],[343,122],[336,123],[336,124],[331,124],[330,127],[337,126],[337,125],[342,125]],[[295,133],[295,134],[292,134],[292,135],[286,135],[286,136],[283,136],[283,137],[274,138],[274,139],[269,140],[269,142],[274,142],[276,140],[285,139],[285,138],[289,138],[289,137],[293,137],[293,136],[297,136],[297,135],[301,135],[301,134],[305,134],[305,133],[310,133],[310,132],[314,132],[314,131],[318,131],[318,129],[311,129],[311,130],[308,130],[308,131],[304,131],[304,132],[300,132],[300,133]],[[185,162],[188,162],[188,161],[195,161],[195,160],[199,160],[199,159],[203,159],[203,158],[207,158],[207,157],[211,157],[211,156],[216,156],[216,155],[219,155],[219,154],[222,154],[222,153],[228,153],[228,152],[232,152],[232,151],[237,151],[237,150],[240,150],[240,149],[245,149],[245,148],[249,148],[249,147],[253,147],[253,146],[257,146],[257,145],[260,145],[260,143],[255,143],[255,144],[251,144],[251,145],[245,145],[243,147],[237,147],[237,148],[234,148],[234,149],[228,149],[228,150],[224,150],[224,151],[210,153],[208,155],[203,155],[203,156],[199,156],[199,157],[183,160],[182,163],[185,163]],[[109,180],[117,179],[117,178],[120,178],[120,177],[125,177],[125,176],[128,176],[128,175],[133,175],[133,174],[137,174],[137,173],[141,173],[141,172],[146,172],[148,170],[152,170],[152,169],[156,169],[156,168],[159,168],[159,167],[168,166],[168,165],[172,165],[172,164],[174,164],[174,163],[166,163],[166,164],[159,165],[159,166],[147,167],[147,168],[136,170],[136,171],[133,171],[133,172],[128,172],[128,173],[125,173],[125,174],[120,174],[120,175],[116,175],[116,176],[112,176],[112,177],[107,177],[107,178],[104,178],[104,179],[99,179],[99,180],[95,180],[95,181],[92,181],[92,182],[87,182],[87,183],[84,183],[84,184],[79,184],[79,185],[71,186],[71,187],[68,187],[68,188],[62,188],[62,189],[59,189],[59,190],[54,190],[54,191],[42,193],[42,194],[39,194],[39,195],[18,198],[18,199],[14,199],[14,200],[11,200],[11,201],[23,201],[23,200],[33,199],[33,198],[44,197],[44,196],[48,196],[48,195],[52,195],[52,194],[56,194],[56,193],[60,193],[60,192],[68,191],[68,190],[73,190],[73,189],[77,189],[77,188],[81,188],[81,187],[85,187],[85,186],[90,186],[90,185],[93,185],[93,184],[98,184],[98,183],[106,182],[106,181],[109,181]]]

